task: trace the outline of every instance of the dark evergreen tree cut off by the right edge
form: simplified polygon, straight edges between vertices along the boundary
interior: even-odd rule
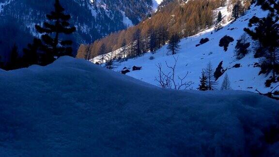
[[[272,81],[275,81],[275,75],[278,73],[278,52],[279,47],[279,4],[276,0],[258,0],[258,4],[262,5],[263,10],[268,10],[270,13],[267,17],[259,18],[253,16],[249,20],[248,27],[255,27],[254,30],[245,28],[253,40],[257,40],[264,52],[265,61],[262,64],[262,71],[268,72],[268,69],[273,71]]]

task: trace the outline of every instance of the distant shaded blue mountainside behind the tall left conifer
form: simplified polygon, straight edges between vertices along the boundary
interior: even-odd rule
[[[93,42],[111,32],[138,24],[141,19],[153,12],[152,0],[60,0],[60,2],[66,13],[72,16],[71,23],[77,27],[77,32],[72,36],[76,45]],[[0,0],[2,21],[0,28],[3,28],[0,34],[4,34],[0,37],[0,48],[9,51],[14,43],[22,48],[27,42],[31,42],[19,39],[38,35],[34,25],[46,20],[46,14],[53,10],[53,3],[54,0]],[[7,29],[9,32],[6,32]],[[11,38],[10,36],[15,36],[15,39],[5,42],[5,39]]]

